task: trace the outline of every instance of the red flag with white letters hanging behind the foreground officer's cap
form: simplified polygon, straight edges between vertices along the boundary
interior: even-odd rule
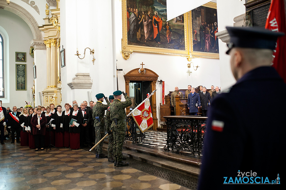
[[[265,28],[275,31],[284,32],[286,34],[286,19],[284,0],[272,0],[267,15]],[[273,53],[273,67],[279,73],[286,83],[286,36],[277,39],[276,49]]]

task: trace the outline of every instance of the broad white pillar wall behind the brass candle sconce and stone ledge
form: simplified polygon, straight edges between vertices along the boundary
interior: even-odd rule
[[[78,103],[87,100],[88,92],[92,92],[92,101],[96,101],[97,93],[106,96],[112,94],[113,56],[112,56],[112,14],[111,1],[80,0],[61,1],[61,47],[65,48],[66,66],[62,68],[62,103]],[[73,10],[73,11],[70,11]],[[104,15],[104,21],[103,21]],[[92,63],[90,50],[86,50],[84,59],[76,54],[78,48],[80,58],[85,48],[94,49],[95,62]],[[92,89],[70,89],[67,83],[72,82],[76,73],[90,73]]]

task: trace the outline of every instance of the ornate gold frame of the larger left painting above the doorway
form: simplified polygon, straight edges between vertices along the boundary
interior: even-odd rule
[[[145,46],[134,46],[128,45],[127,43],[127,20],[126,20],[126,0],[122,0],[122,40],[121,40],[121,53],[125,60],[128,60],[132,52],[142,53],[154,53],[154,54],[169,54],[169,55],[180,55],[184,57],[190,56],[189,54],[189,31],[188,31],[188,14],[184,14],[184,34],[185,34],[185,50],[174,50],[167,48],[156,48],[156,47],[145,47]]]

